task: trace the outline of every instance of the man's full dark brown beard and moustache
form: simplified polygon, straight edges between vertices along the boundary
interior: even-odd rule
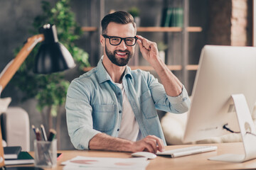
[[[110,59],[110,61],[113,64],[116,64],[117,66],[125,66],[128,64],[129,60],[132,58],[132,55],[134,55],[134,52],[130,52],[129,50],[114,50],[114,52],[111,52],[110,50],[107,49],[107,47],[105,47],[105,52],[107,57]],[[117,52],[126,52],[127,53],[127,57],[126,58],[118,58],[115,57],[115,54]]]

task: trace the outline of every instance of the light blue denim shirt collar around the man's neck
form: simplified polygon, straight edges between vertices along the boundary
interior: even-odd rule
[[[97,76],[99,77],[100,84],[107,80],[112,80],[110,75],[107,73],[107,70],[102,64],[103,56],[100,61],[97,63]],[[126,66],[124,70],[124,77],[129,77],[132,79],[131,68]]]

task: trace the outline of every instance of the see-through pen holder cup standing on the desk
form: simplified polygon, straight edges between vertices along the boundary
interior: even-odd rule
[[[57,140],[35,140],[34,151],[36,167],[52,168],[57,165]]]

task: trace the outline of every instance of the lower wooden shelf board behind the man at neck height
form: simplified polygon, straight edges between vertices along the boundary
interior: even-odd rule
[[[132,70],[134,69],[142,69],[144,71],[154,71],[153,67],[151,66],[129,66],[131,67]],[[167,67],[172,70],[172,71],[179,71],[182,69],[181,65],[167,65]],[[93,69],[94,67],[85,67],[83,69],[83,71],[85,72],[89,72],[91,69]],[[198,65],[187,65],[186,66],[187,70],[197,70],[198,69]]]

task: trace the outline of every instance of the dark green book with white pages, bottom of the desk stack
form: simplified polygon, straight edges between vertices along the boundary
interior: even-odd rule
[[[4,164],[15,165],[15,164],[33,164],[34,159],[28,152],[20,152],[17,159],[4,159]]]

